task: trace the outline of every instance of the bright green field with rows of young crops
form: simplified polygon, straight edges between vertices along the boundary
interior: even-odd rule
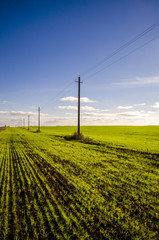
[[[0,132],[0,239],[159,239],[159,127]]]

